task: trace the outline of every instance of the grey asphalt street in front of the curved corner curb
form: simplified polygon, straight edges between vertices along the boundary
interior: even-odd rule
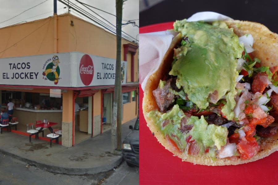
[[[63,175],[44,171],[0,153],[0,185],[125,185],[139,184],[139,168],[123,162],[115,170],[95,175]]]

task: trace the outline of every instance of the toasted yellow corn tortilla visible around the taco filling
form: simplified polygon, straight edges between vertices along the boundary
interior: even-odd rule
[[[261,65],[263,66],[278,66],[278,35],[271,32],[267,27],[262,24],[249,22],[249,21],[239,21],[239,20],[229,20],[225,21],[228,27],[234,28],[234,33],[239,37],[245,34],[251,34],[254,38],[253,48],[255,51],[252,52],[254,57],[261,60]],[[156,104],[153,90],[158,87],[159,80],[163,76],[167,75],[171,69],[171,63],[173,61],[174,48],[177,43],[181,41],[181,34],[178,34],[173,40],[164,55],[164,58],[156,72],[152,74],[145,86],[144,97],[143,97],[143,114],[147,122],[147,126],[150,131],[154,133],[158,142],[162,144],[167,150],[171,151],[174,156],[178,156],[183,161],[192,162],[195,164],[208,165],[208,166],[222,166],[222,165],[237,165],[247,162],[252,162],[264,158],[276,150],[278,150],[278,133],[269,138],[262,138],[260,142],[259,152],[249,160],[241,160],[240,158],[236,161],[229,160],[227,158],[219,159],[217,158],[213,161],[211,158],[207,157],[205,154],[202,156],[192,156],[185,152],[178,151],[175,146],[165,138],[165,136],[154,126],[154,123],[150,118],[147,117],[148,112],[154,109],[158,109]],[[278,126],[276,121],[272,123],[271,126]]]

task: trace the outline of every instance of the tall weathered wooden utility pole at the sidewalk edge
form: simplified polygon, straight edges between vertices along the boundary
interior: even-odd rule
[[[124,0],[116,0],[116,79],[113,101],[113,121],[111,129],[111,150],[121,150],[122,148],[122,82],[121,82],[121,41],[122,41],[122,14]],[[116,135],[117,125],[117,135]],[[117,141],[117,142],[116,142]],[[117,143],[117,145],[116,145]]]

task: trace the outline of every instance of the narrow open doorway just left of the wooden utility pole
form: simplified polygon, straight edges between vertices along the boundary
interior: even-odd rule
[[[112,123],[112,108],[113,108],[113,93],[104,93],[103,94],[103,128],[102,132],[111,129]]]

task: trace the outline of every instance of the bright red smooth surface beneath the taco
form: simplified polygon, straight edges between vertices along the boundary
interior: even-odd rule
[[[172,29],[173,23],[141,27],[140,33]],[[143,91],[139,85],[141,184],[278,184],[278,152],[255,162],[236,166],[203,166],[182,162],[152,135],[142,112]]]

